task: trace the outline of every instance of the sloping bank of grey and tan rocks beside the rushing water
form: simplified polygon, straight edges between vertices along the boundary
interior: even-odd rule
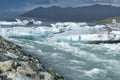
[[[22,47],[0,37],[0,80],[63,80],[52,68],[26,53]]]

